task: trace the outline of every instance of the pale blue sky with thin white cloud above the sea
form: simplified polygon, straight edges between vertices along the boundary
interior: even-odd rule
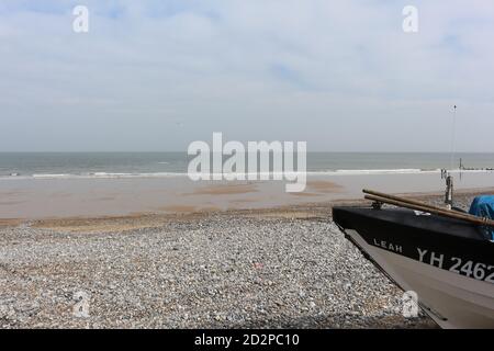
[[[493,37],[478,0],[1,0],[0,151],[494,152]]]

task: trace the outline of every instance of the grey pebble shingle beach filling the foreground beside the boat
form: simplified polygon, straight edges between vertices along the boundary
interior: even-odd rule
[[[402,292],[344,238],[334,204],[3,219],[0,327],[436,328],[402,316]]]

